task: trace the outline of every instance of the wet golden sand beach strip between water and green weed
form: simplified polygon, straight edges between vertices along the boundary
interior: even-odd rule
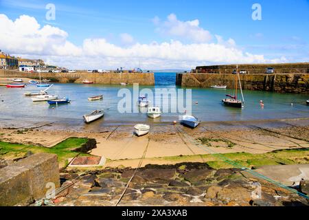
[[[177,129],[178,128],[178,129]],[[181,131],[181,132],[179,132]],[[153,124],[148,135],[137,137],[132,126],[106,126],[71,129],[64,124],[27,124],[15,128],[2,127],[0,140],[52,147],[68,137],[89,137],[97,140],[92,155],[108,159],[106,166],[136,167],[146,151],[142,164],[173,164],[159,157],[209,154],[183,133],[197,140],[208,140],[209,149],[216,153],[267,153],[287,148],[309,147],[309,118],[259,120],[249,122],[203,122],[196,129],[179,124]],[[177,160],[179,162],[179,160]],[[196,157],[192,162],[204,162]]]

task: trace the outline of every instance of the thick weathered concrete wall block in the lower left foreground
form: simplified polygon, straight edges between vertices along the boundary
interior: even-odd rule
[[[0,169],[0,206],[27,206],[45,197],[47,183],[60,186],[57,155],[38,153]]]

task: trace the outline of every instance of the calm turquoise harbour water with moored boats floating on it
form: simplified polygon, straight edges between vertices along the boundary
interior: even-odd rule
[[[155,74],[155,89],[179,89],[174,85],[175,74]],[[94,109],[106,109],[104,118],[98,122],[102,126],[111,124],[132,124],[135,122],[153,122],[146,113],[119,113],[117,104],[122,98],[117,97],[119,89],[133,90],[133,87],[111,85],[79,85],[73,83],[56,83],[49,94],[56,94],[59,98],[69,97],[71,104],[49,107],[47,102],[32,102],[31,98],[23,96],[25,91],[38,91],[33,85],[25,89],[7,89],[0,87],[0,122],[8,124],[14,122],[56,122],[65,124],[82,124],[82,115]],[[231,121],[231,120],[268,120],[282,118],[309,117],[309,107],[306,106],[308,96],[298,94],[275,94],[264,91],[244,91],[244,109],[225,107],[221,104],[229,89],[192,89],[192,114],[202,121]],[[89,96],[103,94],[104,99],[89,102]],[[3,102],[2,102],[3,100]],[[260,100],[264,101],[264,109],[260,107]],[[135,104],[137,100],[132,100]],[[163,100],[164,103],[168,100]],[[198,102],[198,104],[196,104]],[[293,106],[291,105],[293,103]],[[183,112],[181,112],[183,113]],[[163,113],[155,122],[172,122],[178,120],[179,113]]]

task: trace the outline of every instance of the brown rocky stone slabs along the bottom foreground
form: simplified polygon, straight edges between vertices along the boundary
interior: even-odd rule
[[[56,206],[115,206],[135,169],[62,172],[64,190],[54,199]],[[243,172],[200,163],[148,165],[137,171],[118,206],[308,206],[296,193]]]

